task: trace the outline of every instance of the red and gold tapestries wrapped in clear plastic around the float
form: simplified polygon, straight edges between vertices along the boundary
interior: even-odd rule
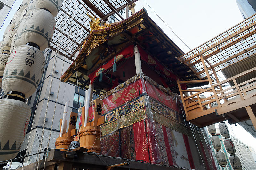
[[[180,96],[143,73],[100,99],[106,116],[100,127],[101,154],[188,169],[217,169],[206,129],[187,123]],[[90,103],[89,121],[94,104],[95,100]]]

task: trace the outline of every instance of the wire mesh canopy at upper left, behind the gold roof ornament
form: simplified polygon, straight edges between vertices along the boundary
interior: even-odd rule
[[[51,48],[58,49],[59,54],[66,53],[66,57],[72,59],[90,33],[91,19],[87,13],[105,19],[135,1],[137,0],[63,0],[60,12],[55,18],[56,29]]]

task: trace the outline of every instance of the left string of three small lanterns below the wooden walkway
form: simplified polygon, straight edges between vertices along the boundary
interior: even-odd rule
[[[217,162],[221,167],[225,167],[227,165],[227,160],[224,153],[220,150],[221,143],[220,143],[219,137],[216,135],[215,125],[213,124],[213,125],[207,126],[207,128],[209,133],[211,133],[212,135],[211,142],[212,142],[213,148],[216,150],[215,156],[216,156]]]

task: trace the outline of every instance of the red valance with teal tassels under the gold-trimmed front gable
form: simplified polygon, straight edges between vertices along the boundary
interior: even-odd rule
[[[134,55],[134,45],[130,45],[127,48],[125,48],[123,51],[121,51],[120,53],[118,53],[116,55],[116,59],[118,62],[118,60],[121,60],[123,58],[128,58],[128,57],[132,57]],[[111,58],[108,63],[104,64],[102,66],[102,70],[103,69],[108,69],[110,67],[113,67],[113,63],[114,62],[114,57]],[[95,70],[93,73],[89,74],[89,78],[91,80],[91,84],[94,82],[95,78],[97,78],[99,76],[99,71],[101,70],[101,67],[99,67],[99,69]],[[104,71],[103,71],[104,72]]]

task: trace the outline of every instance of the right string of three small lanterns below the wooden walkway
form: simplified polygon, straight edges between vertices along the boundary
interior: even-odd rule
[[[229,161],[233,169],[242,170],[242,164],[238,156],[235,155],[236,149],[233,141],[230,139],[228,127],[224,122],[220,122],[219,129],[221,135],[225,138],[224,145],[228,153],[230,154]]]

